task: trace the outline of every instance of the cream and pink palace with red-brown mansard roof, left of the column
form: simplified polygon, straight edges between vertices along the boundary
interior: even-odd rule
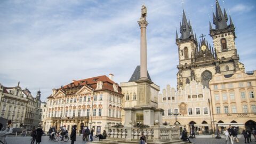
[[[121,122],[122,98],[121,87],[113,80],[114,75],[97,76],[73,80],[72,83],[53,89],[42,107],[43,127],[48,131],[51,126],[59,129],[66,125],[77,125],[77,131],[83,126],[102,133],[105,125]]]

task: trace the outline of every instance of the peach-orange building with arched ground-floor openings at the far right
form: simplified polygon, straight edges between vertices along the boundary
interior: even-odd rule
[[[210,81],[213,119],[219,129],[231,124],[239,127],[256,127],[256,71],[235,74],[215,74]]]

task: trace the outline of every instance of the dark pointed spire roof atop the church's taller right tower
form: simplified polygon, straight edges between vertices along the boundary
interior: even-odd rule
[[[216,0],[216,17],[215,18],[213,13],[213,23],[216,26],[215,29],[224,29],[228,27],[227,26],[228,17],[226,17],[226,15],[227,15],[226,10],[224,10],[224,15],[223,15],[220,8],[220,4],[218,0]]]

